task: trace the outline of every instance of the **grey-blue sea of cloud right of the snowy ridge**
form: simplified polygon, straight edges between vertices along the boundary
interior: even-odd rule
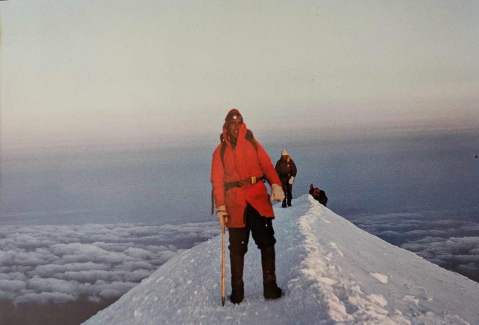
[[[361,214],[348,219],[369,233],[479,282],[477,217],[454,214],[438,217],[438,214],[437,211]]]

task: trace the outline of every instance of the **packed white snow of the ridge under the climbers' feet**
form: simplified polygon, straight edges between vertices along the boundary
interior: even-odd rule
[[[284,297],[264,300],[250,240],[245,299],[222,307],[218,236],[173,257],[84,324],[479,324],[478,283],[357,228],[310,195],[276,205],[275,214]],[[227,294],[229,264],[227,255]]]

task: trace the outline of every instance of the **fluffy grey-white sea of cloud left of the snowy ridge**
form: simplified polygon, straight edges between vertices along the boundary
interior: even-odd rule
[[[0,300],[119,298],[179,252],[219,232],[217,222],[2,226]]]

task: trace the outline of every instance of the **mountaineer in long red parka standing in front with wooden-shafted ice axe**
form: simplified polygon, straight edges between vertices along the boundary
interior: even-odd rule
[[[281,202],[284,193],[281,181],[271,159],[246,129],[240,112],[231,110],[223,125],[222,143],[213,153],[211,182],[220,224],[228,226],[231,261],[232,303],[239,304],[244,297],[243,265],[249,232],[261,250],[263,296],[281,297],[276,284],[274,218],[269,199]],[[271,196],[263,183],[271,185]]]

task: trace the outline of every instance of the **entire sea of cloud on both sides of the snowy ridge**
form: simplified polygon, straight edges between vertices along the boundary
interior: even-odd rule
[[[436,213],[349,216],[360,228],[479,282],[479,223]],[[216,222],[10,225],[0,228],[0,300],[116,299],[170,258],[204,242]]]

